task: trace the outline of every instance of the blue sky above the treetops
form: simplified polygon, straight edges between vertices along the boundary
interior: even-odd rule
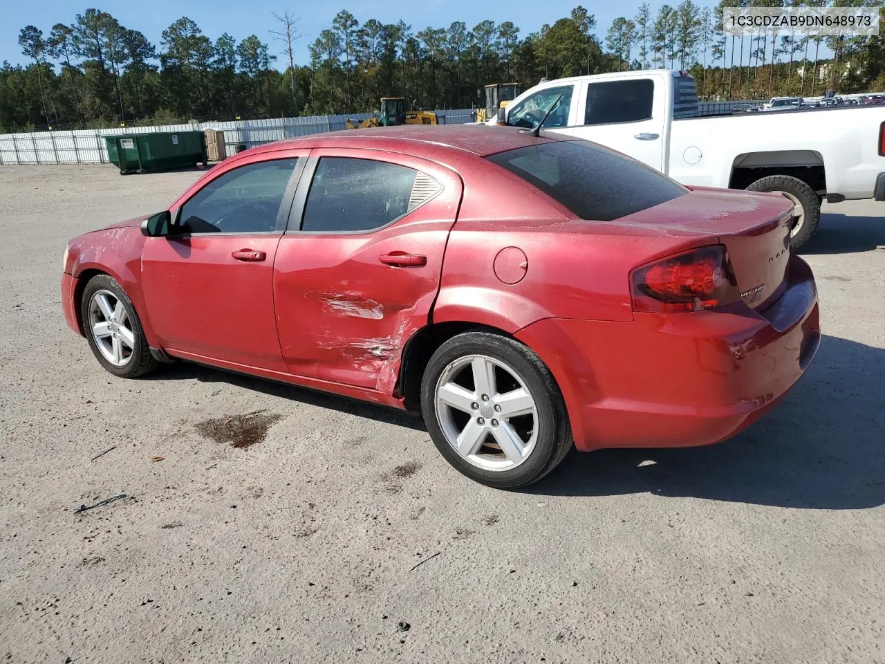
[[[713,6],[713,0],[695,0],[700,6]],[[237,41],[255,34],[272,44],[272,51],[281,50],[279,43],[272,42],[275,20],[271,12],[287,10],[300,16],[298,23],[304,37],[298,42],[297,64],[307,64],[307,45],[319,35],[319,31],[330,27],[332,18],[342,9],[350,11],[360,23],[367,19],[378,19],[383,23],[395,23],[403,19],[412,24],[415,31],[431,27],[448,27],[452,21],[463,20],[467,27],[473,27],[483,19],[496,23],[512,20],[525,36],[539,29],[544,23],[569,15],[573,6],[583,4],[590,13],[596,14],[596,34],[604,39],[605,32],[618,16],[631,18],[641,0],[621,2],[583,2],[580,0],[546,0],[543,4],[523,0],[503,0],[499,2],[478,2],[477,0],[419,0],[414,3],[396,2],[310,2],[296,3],[285,0],[106,0],[98,3],[81,3],[79,0],[39,0],[28,3],[22,0],[9,0],[0,22],[0,62],[9,60],[13,64],[24,64],[25,58],[19,49],[19,30],[27,25],[35,25],[49,35],[56,23],[72,23],[76,14],[88,7],[111,13],[126,27],[141,30],[155,45],[160,35],[173,20],[183,16],[194,19],[205,35],[212,41],[224,32],[234,35]],[[658,11],[662,2],[650,2],[652,13]],[[678,4],[671,0],[670,4]],[[543,9],[539,9],[543,7]],[[278,65],[281,62],[278,61]]]

